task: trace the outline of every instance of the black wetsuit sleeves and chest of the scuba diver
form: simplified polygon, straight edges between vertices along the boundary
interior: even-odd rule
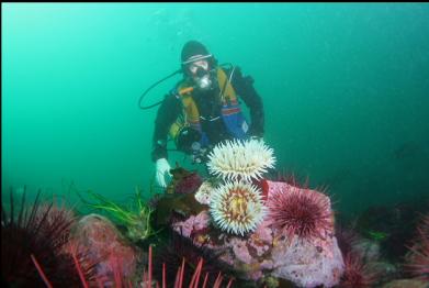
[[[229,75],[229,70],[225,70]],[[217,80],[216,80],[217,81]],[[250,126],[247,132],[250,136],[263,136],[263,106],[262,100],[253,88],[253,79],[250,76],[244,77],[239,67],[236,67],[232,78],[232,85],[238,99],[242,99],[250,112]],[[221,101],[218,99],[219,88],[213,90],[193,91],[192,98],[199,109],[202,130],[207,135],[210,143],[216,143],[232,139],[221,117]],[[181,99],[174,95],[167,95],[158,109],[155,120],[153,136],[151,159],[167,158],[167,135],[170,126],[182,113]],[[210,121],[211,119],[217,120]]]

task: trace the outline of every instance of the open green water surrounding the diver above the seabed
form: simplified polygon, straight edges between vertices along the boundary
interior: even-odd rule
[[[148,188],[156,109],[138,98],[199,40],[255,78],[276,168],[337,210],[429,195],[426,3],[2,3],[1,37],[2,191]]]

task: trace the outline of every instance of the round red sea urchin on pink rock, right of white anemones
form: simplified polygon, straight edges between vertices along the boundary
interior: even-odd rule
[[[324,193],[285,182],[267,181],[272,191],[267,207],[272,228],[285,232],[289,239],[325,237],[334,231],[330,201]]]

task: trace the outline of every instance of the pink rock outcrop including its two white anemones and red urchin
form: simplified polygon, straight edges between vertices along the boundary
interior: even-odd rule
[[[334,287],[345,263],[330,200],[306,187],[264,179],[274,163],[263,141],[217,145],[207,163],[214,177],[187,191],[187,201],[165,196],[156,208],[157,222],[168,219],[176,232],[218,254],[245,280],[270,287],[281,281]],[[178,178],[174,187],[179,184]]]

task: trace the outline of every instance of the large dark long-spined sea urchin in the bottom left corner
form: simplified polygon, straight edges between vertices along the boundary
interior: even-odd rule
[[[14,211],[13,192],[10,210],[1,206],[1,275],[15,287],[45,287],[43,274],[53,286],[80,283],[74,261],[64,248],[74,218],[54,203],[41,206],[39,192],[31,208],[25,207],[25,191],[19,211]],[[89,274],[87,274],[88,276]]]

